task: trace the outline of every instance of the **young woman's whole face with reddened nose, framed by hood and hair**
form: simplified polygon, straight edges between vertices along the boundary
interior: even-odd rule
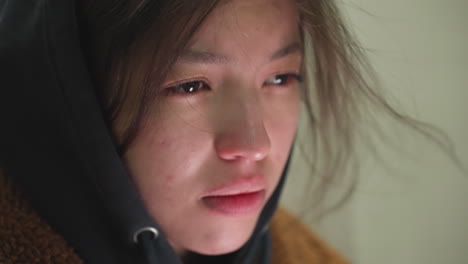
[[[296,132],[301,44],[292,0],[233,0],[175,63],[124,158],[179,254],[252,234]]]

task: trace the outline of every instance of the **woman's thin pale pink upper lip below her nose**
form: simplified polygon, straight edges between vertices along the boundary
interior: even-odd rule
[[[265,177],[262,175],[256,174],[248,177],[239,177],[209,190],[202,196],[202,198],[209,196],[230,196],[259,192],[264,190],[265,186]]]

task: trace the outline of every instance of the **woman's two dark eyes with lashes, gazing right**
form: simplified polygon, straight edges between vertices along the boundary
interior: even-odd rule
[[[268,81],[272,79],[279,79],[279,78],[287,78],[287,79],[285,82],[282,82],[282,83],[267,84]],[[278,75],[274,75],[273,77],[268,78],[263,83],[263,85],[288,86],[293,81],[301,83],[302,76],[296,73],[278,74]],[[194,95],[196,93],[199,93],[201,89],[209,90],[210,87],[205,81],[194,80],[194,81],[188,81],[188,82],[176,84],[176,85],[165,88],[165,90],[167,91],[167,95],[181,95],[181,96]]]

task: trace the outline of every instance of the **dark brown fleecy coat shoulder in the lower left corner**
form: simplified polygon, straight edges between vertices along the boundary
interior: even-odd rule
[[[0,263],[82,263],[0,168]]]

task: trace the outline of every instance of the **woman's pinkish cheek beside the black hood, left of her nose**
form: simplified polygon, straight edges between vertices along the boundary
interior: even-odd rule
[[[125,154],[130,174],[144,200],[183,188],[199,168],[201,133],[177,120],[158,120],[143,129]]]

